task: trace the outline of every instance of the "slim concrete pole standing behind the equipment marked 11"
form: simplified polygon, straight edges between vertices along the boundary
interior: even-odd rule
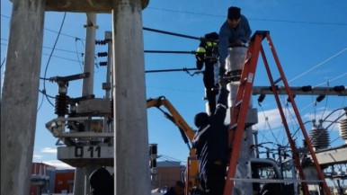
[[[96,14],[86,13],[87,24],[85,25],[85,66],[84,72],[89,72],[88,78],[83,79],[82,96],[93,94],[93,79],[94,79],[94,56],[95,56],[95,31],[96,31]],[[85,130],[90,130],[90,124],[85,124]],[[89,194],[89,175],[93,172],[93,164],[86,167],[76,167],[74,194]]]

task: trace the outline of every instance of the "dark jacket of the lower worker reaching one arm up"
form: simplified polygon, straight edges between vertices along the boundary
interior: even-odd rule
[[[209,124],[200,127],[193,139],[196,155],[199,159],[200,173],[209,164],[216,161],[227,163],[227,126],[224,120],[227,115],[227,89],[221,88],[215,113],[209,117]]]

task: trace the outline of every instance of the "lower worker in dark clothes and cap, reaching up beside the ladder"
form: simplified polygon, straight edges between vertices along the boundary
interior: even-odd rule
[[[220,82],[218,105],[214,114],[198,113],[194,118],[198,129],[193,139],[199,160],[200,185],[208,195],[223,194],[227,167],[227,94],[225,82]]]

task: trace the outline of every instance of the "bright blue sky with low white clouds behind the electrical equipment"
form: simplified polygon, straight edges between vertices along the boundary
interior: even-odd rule
[[[161,31],[171,31],[194,37],[219,31],[226,21],[227,8],[239,6],[242,14],[248,19],[252,31],[270,31],[271,40],[280,58],[281,66],[291,86],[335,86],[347,85],[347,2],[323,0],[267,0],[267,1],[209,1],[209,0],[151,0],[143,11],[143,26]],[[12,3],[1,1],[1,74],[4,77],[6,49],[9,40]],[[75,75],[83,71],[83,53],[85,52],[85,13],[45,14],[44,40],[41,59],[40,77]],[[104,32],[111,31],[111,14],[97,14],[96,40],[104,39]],[[61,27],[61,33],[58,31]],[[58,40],[57,40],[58,39]],[[52,53],[53,46],[57,45]],[[267,43],[263,42],[264,48]],[[197,49],[199,40],[191,40],[172,35],[144,31],[144,49],[146,50],[179,50]],[[120,46],[121,47],[121,46]],[[96,52],[107,51],[106,46],[96,46]],[[49,54],[52,57],[49,58]],[[130,54],[129,54],[130,55]],[[271,58],[269,54],[267,56]],[[261,58],[259,58],[261,60]],[[96,57],[96,63],[106,58]],[[145,54],[145,69],[193,68],[195,58],[191,54]],[[45,69],[47,74],[45,75]],[[102,83],[105,82],[105,66],[95,66],[94,94],[103,97]],[[191,72],[193,73],[193,72]],[[277,75],[278,76],[278,75]],[[3,81],[1,82],[3,84]],[[269,80],[262,63],[259,63],[255,74],[254,85],[269,85]],[[58,94],[58,84],[40,82],[40,90],[46,89],[51,96]],[[68,95],[80,97],[82,81],[69,83]],[[147,73],[147,98],[165,96],[184,120],[193,127],[193,117],[205,111],[204,87],[202,75],[189,75],[185,72]],[[136,95],[136,94],[134,94]],[[258,130],[260,142],[271,142],[268,147],[288,144],[281,125],[277,105],[271,95],[258,105],[254,96],[254,107],[258,109]],[[286,95],[280,97],[282,102]],[[331,111],[334,113],[327,120],[335,120],[343,114],[338,110],[346,107],[343,96],[328,96],[322,102],[315,102],[315,95],[297,96],[296,102],[302,120],[307,122],[307,131],[312,128],[311,120],[325,119]],[[50,100],[53,101],[53,100]],[[34,162],[67,167],[57,160],[57,138],[53,137],[45,123],[57,118],[54,108],[39,97]],[[286,105],[286,104],[284,104]],[[338,110],[338,111],[335,111]],[[292,120],[290,104],[285,109],[289,117],[291,131],[298,129],[298,123]],[[4,114],[4,113],[2,113]],[[166,120],[155,108],[147,110],[148,143],[158,144],[158,161],[173,160],[186,162],[188,147],[183,143],[178,129]],[[329,123],[325,123],[327,127]],[[146,128],[146,127],[144,127]],[[338,125],[329,126],[331,146],[341,146],[344,141],[339,137]],[[298,134],[298,145],[302,145],[302,135]],[[131,140],[129,140],[131,141]]]

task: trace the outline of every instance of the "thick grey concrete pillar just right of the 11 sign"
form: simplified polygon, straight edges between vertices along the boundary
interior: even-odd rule
[[[113,0],[114,194],[150,194],[141,0]]]

